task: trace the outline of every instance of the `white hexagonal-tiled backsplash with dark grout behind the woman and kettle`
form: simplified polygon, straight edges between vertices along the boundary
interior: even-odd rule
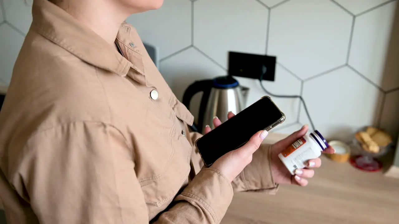
[[[0,82],[6,84],[32,21],[30,1],[0,0]],[[397,0],[165,0],[161,9],[127,22],[158,47],[160,71],[179,99],[195,80],[225,75],[228,51],[267,53],[277,56],[277,67],[275,82],[264,81],[265,87],[302,94],[327,138],[348,140],[365,125],[396,137],[396,5]],[[238,79],[251,88],[247,105],[265,95],[258,81]],[[275,131],[290,133],[308,123],[299,100],[273,100],[287,116]]]

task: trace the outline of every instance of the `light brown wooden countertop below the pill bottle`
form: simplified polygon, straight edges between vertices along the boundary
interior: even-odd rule
[[[222,224],[244,223],[398,224],[399,179],[322,156],[307,187],[280,185],[277,195],[235,193]]]

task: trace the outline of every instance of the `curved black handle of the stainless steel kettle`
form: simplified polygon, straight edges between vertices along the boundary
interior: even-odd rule
[[[213,85],[213,80],[201,80],[196,81],[195,83],[188,86],[183,95],[183,104],[190,110],[190,102],[193,96],[198,92],[203,92],[201,98],[201,104],[199,105],[199,114],[198,114],[198,124],[194,124],[191,126],[191,129],[194,132],[201,133],[202,124],[203,124],[203,115],[205,114],[206,105],[208,103],[209,94],[211,92],[211,88]]]

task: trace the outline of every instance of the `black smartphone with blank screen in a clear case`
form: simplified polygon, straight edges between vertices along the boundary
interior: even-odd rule
[[[264,96],[196,141],[206,167],[229,151],[243,146],[260,130],[271,130],[285,115],[269,96]]]

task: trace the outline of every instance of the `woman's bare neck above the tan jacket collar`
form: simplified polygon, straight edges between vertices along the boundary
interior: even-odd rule
[[[117,5],[105,0],[65,0],[58,4],[85,26],[92,29],[107,43],[115,45],[120,24],[129,16],[122,13]]]

